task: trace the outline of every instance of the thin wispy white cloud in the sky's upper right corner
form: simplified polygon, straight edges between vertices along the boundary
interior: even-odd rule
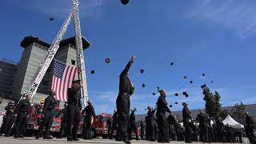
[[[188,11],[189,18],[214,22],[234,30],[241,38],[256,32],[256,2],[235,0],[195,0]]]

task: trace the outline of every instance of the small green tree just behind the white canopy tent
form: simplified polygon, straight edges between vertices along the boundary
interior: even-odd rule
[[[234,118],[244,118],[246,112],[246,106],[242,102],[234,104],[231,109],[231,116]]]

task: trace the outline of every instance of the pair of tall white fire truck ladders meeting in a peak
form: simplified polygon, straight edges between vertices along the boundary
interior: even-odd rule
[[[25,98],[26,95],[30,95],[32,99],[36,94],[38,90],[38,86],[42,81],[42,78],[46,74],[46,70],[49,68],[50,63],[54,59],[54,55],[58,51],[59,44],[62,41],[64,34],[66,33],[67,27],[70,25],[72,18],[74,18],[75,42],[77,47],[77,58],[78,58],[77,59],[78,79],[81,81],[81,96],[83,99],[82,106],[86,104],[88,100],[87,84],[86,84],[86,68],[85,68],[85,62],[84,62],[83,50],[82,50],[82,36],[81,36],[78,5],[79,5],[78,0],[73,0],[73,8],[69,16],[66,18],[65,22],[63,23],[61,30],[59,30],[57,37],[54,39],[54,42],[50,45],[50,48],[47,51],[45,58],[42,59],[42,62],[38,68],[38,73],[36,74],[36,77],[34,78],[34,81],[32,82],[32,84],[30,85],[29,90],[22,95],[19,102],[22,100],[22,98]]]

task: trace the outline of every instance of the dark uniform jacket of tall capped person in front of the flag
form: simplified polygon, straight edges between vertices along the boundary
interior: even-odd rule
[[[79,110],[82,110],[82,104],[81,104],[81,95],[80,95],[80,87],[78,88],[69,88],[67,90],[68,98],[67,103],[68,106],[75,105],[79,107]]]

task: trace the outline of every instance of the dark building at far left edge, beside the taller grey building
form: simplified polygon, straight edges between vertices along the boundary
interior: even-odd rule
[[[0,97],[10,98],[11,85],[14,82],[17,64],[11,60],[2,58],[0,60]]]

